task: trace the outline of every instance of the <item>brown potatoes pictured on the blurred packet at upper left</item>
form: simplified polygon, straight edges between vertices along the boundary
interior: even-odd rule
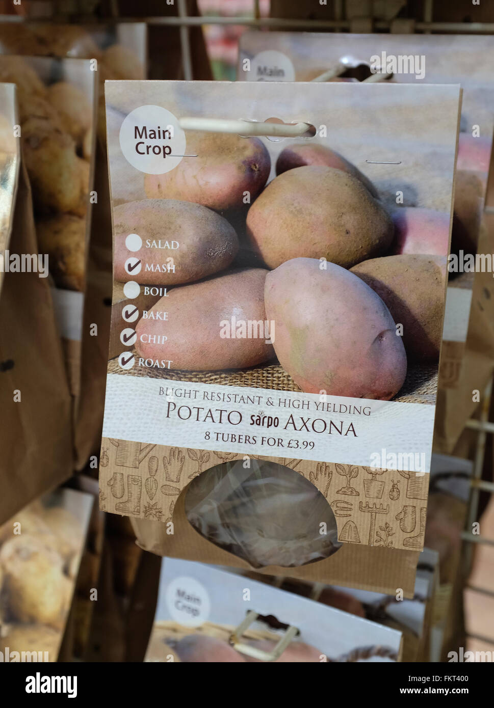
[[[82,291],[92,107],[67,81],[46,86],[21,57],[0,56],[0,81],[17,85],[40,253],[59,287]]]

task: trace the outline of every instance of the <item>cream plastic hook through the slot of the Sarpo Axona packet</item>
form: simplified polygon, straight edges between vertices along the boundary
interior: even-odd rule
[[[203,130],[204,132],[225,132],[252,136],[302,137],[314,135],[315,127],[310,123],[271,123],[254,120],[225,120],[223,118],[179,118],[182,130]]]

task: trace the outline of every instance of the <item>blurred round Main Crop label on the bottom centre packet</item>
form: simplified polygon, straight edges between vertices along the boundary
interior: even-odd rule
[[[174,578],[167,587],[165,602],[175,622],[184,627],[199,627],[209,617],[208,590],[195,578]]]

